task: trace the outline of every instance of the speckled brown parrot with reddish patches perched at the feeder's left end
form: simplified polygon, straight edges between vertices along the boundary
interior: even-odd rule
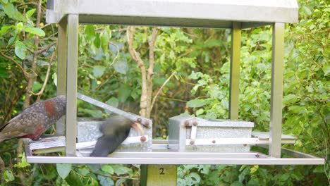
[[[32,104],[0,128],[0,142],[15,137],[38,140],[65,113],[65,96],[58,96]]]

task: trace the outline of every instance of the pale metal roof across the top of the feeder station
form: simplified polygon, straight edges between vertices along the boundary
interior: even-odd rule
[[[295,0],[54,0],[49,2],[47,9],[60,14],[78,13],[83,16],[79,18],[80,23],[115,21],[119,25],[219,27],[230,21],[298,22],[298,4]],[[51,16],[59,17],[47,13],[47,17]],[[47,20],[56,21],[55,18]],[[227,26],[229,28],[229,24]]]

